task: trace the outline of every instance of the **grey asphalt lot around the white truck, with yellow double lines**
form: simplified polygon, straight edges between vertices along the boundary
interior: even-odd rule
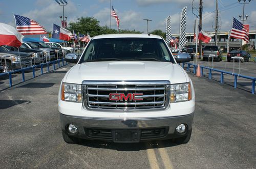
[[[256,167],[255,95],[192,73],[196,112],[188,144],[66,144],[57,94],[70,67],[1,91],[0,168]]]

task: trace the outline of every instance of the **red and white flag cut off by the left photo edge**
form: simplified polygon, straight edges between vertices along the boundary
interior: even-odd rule
[[[22,38],[24,36],[20,34],[14,27],[9,24],[0,23],[0,46],[8,45],[19,47],[22,45]]]

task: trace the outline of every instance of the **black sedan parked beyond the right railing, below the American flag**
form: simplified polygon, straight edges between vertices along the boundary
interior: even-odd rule
[[[232,50],[227,53],[227,62],[241,61],[241,62],[250,62],[251,55],[244,50]]]

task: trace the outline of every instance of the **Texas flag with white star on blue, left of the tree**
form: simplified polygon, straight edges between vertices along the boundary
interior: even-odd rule
[[[52,38],[69,41],[71,35],[72,33],[69,30],[66,30],[63,27],[53,24]]]

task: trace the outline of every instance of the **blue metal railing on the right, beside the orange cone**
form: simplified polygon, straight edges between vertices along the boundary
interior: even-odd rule
[[[190,66],[193,66],[193,73],[196,74],[196,70],[197,70],[197,65],[195,64],[191,64],[191,63],[182,63],[182,68],[184,68],[185,64],[187,65],[187,71],[190,71],[189,68]],[[227,72],[224,70],[219,70],[219,69],[214,69],[214,68],[209,68],[209,67],[205,67],[205,66],[200,66],[201,69],[201,76],[203,76],[203,70],[206,69],[209,71],[209,76],[208,78],[211,79],[212,76],[212,71],[216,71],[216,72],[220,72],[221,73],[221,77],[220,77],[220,82],[224,83],[224,74],[228,74],[231,76],[234,76],[234,88],[237,88],[237,81],[238,81],[238,77],[242,77],[245,79],[249,79],[251,80],[251,93],[254,94],[255,93],[255,81],[256,81],[256,77],[251,77],[251,76],[245,76],[242,74],[237,74],[237,73],[232,73],[232,72]],[[186,69],[185,69],[186,70]]]

